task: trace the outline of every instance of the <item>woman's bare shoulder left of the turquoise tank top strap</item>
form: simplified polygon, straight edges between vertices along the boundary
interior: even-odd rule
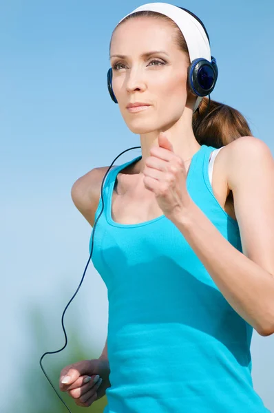
[[[113,165],[111,169],[116,167]],[[71,189],[71,197],[75,207],[83,217],[94,225],[94,216],[101,197],[101,185],[109,167],[96,167],[78,178]]]

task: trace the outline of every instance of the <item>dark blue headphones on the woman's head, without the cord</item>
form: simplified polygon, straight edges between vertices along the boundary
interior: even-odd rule
[[[202,25],[205,34],[207,34],[207,39],[209,39],[209,34],[207,29],[204,27],[204,23],[196,16],[196,14],[190,12],[189,10],[176,6],[185,12],[188,12]],[[210,41],[209,41],[210,44]],[[107,89],[109,90],[109,95],[114,101],[118,103],[114,91],[112,89],[112,67],[107,71]],[[197,96],[204,97],[213,91],[218,78],[218,66],[216,59],[211,56],[211,62],[204,58],[194,59],[187,70],[187,81],[189,88],[193,94]]]

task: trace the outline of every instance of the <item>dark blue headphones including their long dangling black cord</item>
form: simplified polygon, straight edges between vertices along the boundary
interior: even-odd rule
[[[195,19],[197,19],[199,21],[199,23],[202,25],[202,27],[204,28],[204,32],[207,34],[207,39],[209,39],[209,35],[207,33],[206,28],[204,27],[204,24],[202,23],[202,21],[196,16],[196,14],[193,14],[192,12],[190,12],[189,10],[176,6],[182,10],[185,10],[186,12],[188,12],[189,14],[191,14]],[[209,42],[210,43],[210,42]],[[199,59],[195,59],[193,60],[193,62],[191,63],[191,65],[188,68],[188,83],[189,83],[189,87],[191,89],[191,91],[196,94],[197,96],[207,96],[209,95],[214,87],[215,87],[215,83],[217,81],[218,78],[218,67],[217,67],[217,63],[216,60],[214,59],[213,56],[211,56],[211,62],[209,62],[207,59],[203,59],[203,58],[199,58]],[[114,100],[115,103],[117,102],[117,99],[114,95],[113,89],[112,89],[112,68],[110,68],[107,72],[107,87],[109,90],[109,94],[110,97],[112,98],[112,100]],[[209,96],[210,99],[210,96]],[[63,310],[63,315],[62,315],[62,319],[61,319],[61,324],[62,324],[62,328],[63,328],[63,332],[65,335],[65,345],[60,349],[60,350],[56,350],[56,351],[51,351],[51,352],[45,352],[43,354],[43,356],[41,357],[39,363],[41,366],[41,369],[43,371],[43,373],[45,374],[45,377],[48,379],[50,385],[52,386],[54,392],[56,392],[57,396],[59,397],[59,399],[61,400],[61,402],[65,405],[65,407],[67,407],[67,410],[72,413],[72,411],[70,410],[70,407],[67,406],[67,404],[65,403],[65,401],[63,401],[63,399],[61,398],[61,396],[59,395],[59,393],[56,391],[56,389],[54,388],[54,385],[52,384],[52,381],[50,381],[50,378],[48,377],[48,375],[46,374],[43,366],[42,366],[42,360],[43,357],[45,357],[46,354],[56,354],[57,352],[61,352],[66,346],[67,346],[67,334],[65,332],[65,326],[63,324],[63,319],[64,319],[64,315],[65,315],[65,311],[67,310],[67,307],[70,305],[70,303],[72,302],[72,300],[74,299],[74,297],[76,296],[76,294],[78,293],[78,290],[80,289],[82,283],[83,283],[83,279],[85,277],[85,273],[87,271],[87,266],[89,264],[89,261],[92,257],[92,252],[93,252],[93,246],[94,246],[94,232],[95,232],[95,228],[96,228],[96,224],[98,222],[98,219],[101,217],[102,213],[103,213],[103,209],[104,209],[104,200],[103,200],[103,186],[104,186],[104,182],[105,182],[105,178],[107,176],[107,173],[109,172],[109,169],[112,168],[112,165],[114,164],[114,162],[116,161],[117,158],[119,158],[121,155],[123,155],[123,153],[127,152],[127,151],[131,151],[131,149],[138,149],[141,148],[140,146],[138,147],[131,147],[129,149],[125,149],[125,151],[121,152],[118,156],[116,156],[116,158],[112,161],[111,165],[109,166],[109,168],[107,169],[107,172],[105,173],[105,176],[103,178],[102,184],[101,184],[101,200],[102,200],[102,209],[101,212],[98,214],[98,217],[96,218],[96,221],[94,222],[94,226],[93,226],[93,231],[92,231],[92,246],[91,246],[91,253],[89,255],[89,260],[87,261],[87,264],[85,266],[85,271],[83,273],[82,279],[80,284],[78,285],[78,288],[76,289],[76,292],[74,293],[74,295],[72,296],[72,298],[70,299],[70,301],[67,303],[67,306],[65,306],[65,310]]]

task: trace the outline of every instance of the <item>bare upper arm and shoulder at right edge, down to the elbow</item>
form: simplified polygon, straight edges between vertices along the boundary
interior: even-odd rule
[[[253,136],[238,138],[225,149],[242,251],[274,275],[274,160],[271,150]]]

